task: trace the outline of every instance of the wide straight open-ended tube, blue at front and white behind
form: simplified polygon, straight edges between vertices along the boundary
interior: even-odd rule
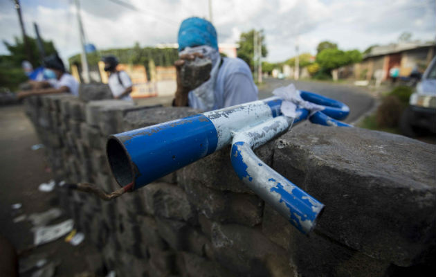
[[[234,132],[280,116],[281,100],[208,111],[109,137],[107,157],[120,186],[145,186],[229,145]]]

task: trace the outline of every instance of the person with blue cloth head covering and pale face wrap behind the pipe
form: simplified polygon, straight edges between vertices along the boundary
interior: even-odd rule
[[[210,111],[257,100],[257,87],[248,64],[239,58],[221,57],[217,31],[206,19],[190,17],[180,26],[179,60],[176,66],[177,89],[174,106],[190,106]],[[181,74],[183,64],[197,58],[212,61],[210,78],[199,87],[185,87]]]

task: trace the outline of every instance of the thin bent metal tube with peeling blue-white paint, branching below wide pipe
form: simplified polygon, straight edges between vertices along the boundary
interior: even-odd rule
[[[278,116],[235,135],[230,160],[239,179],[256,195],[287,218],[302,233],[309,233],[324,204],[266,165],[252,149],[287,131],[293,118]]]

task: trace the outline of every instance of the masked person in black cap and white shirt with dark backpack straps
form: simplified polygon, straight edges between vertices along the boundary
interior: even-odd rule
[[[129,75],[126,71],[118,71],[118,59],[115,56],[109,55],[102,58],[105,62],[105,71],[109,72],[109,88],[112,91],[113,98],[122,100],[131,100],[130,93],[132,84]]]

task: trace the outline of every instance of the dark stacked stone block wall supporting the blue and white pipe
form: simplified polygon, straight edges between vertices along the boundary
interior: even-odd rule
[[[57,181],[118,188],[109,134],[197,111],[28,98]],[[436,147],[358,128],[303,124],[255,152],[326,205],[302,235],[237,178],[230,148],[102,202],[57,187],[60,203],[117,276],[398,276],[435,270]]]

